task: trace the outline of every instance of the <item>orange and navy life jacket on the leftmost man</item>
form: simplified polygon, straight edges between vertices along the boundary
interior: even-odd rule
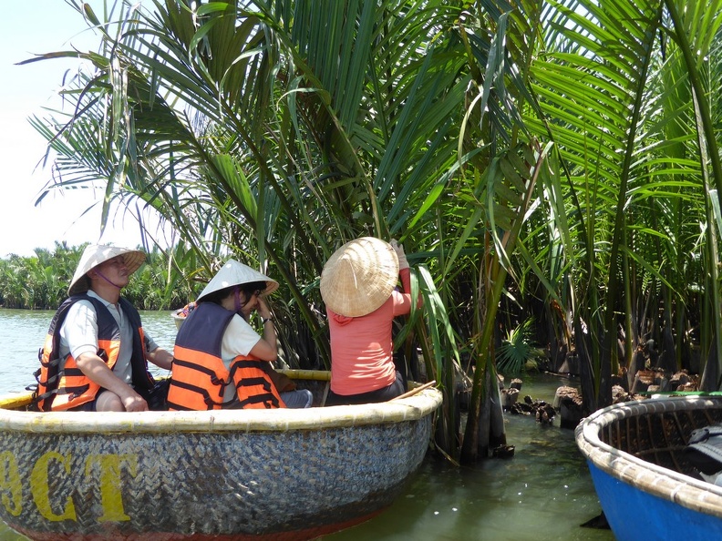
[[[100,386],[93,383],[78,367],[72,355],[65,359],[57,357],[60,349],[60,328],[67,311],[77,301],[90,301],[98,318],[98,356],[108,363],[110,370],[118,361],[120,351],[120,328],[105,304],[83,293],[73,295],[57,309],[46,334],[44,347],[38,352],[40,368],[36,371],[37,405],[41,411],[67,410],[95,400]],[[145,355],[145,333],[140,324],[138,311],[125,299],[119,299],[120,308],[129,318],[133,332],[133,352],[130,357],[132,385],[138,390],[148,390],[153,384],[148,372]],[[65,362],[64,362],[65,361]]]

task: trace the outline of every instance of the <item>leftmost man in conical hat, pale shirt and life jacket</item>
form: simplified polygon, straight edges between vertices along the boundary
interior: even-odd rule
[[[38,393],[49,400],[46,407],[40,403],[42,409],[149,409],[147,398],[155,382],[148,362],[170,370],[173,356],[145,334],[138,311],[120,297],[130,275],[145,259],[140,250],[105,245],[89,245],[84,250],[68,288],[69,298],[48,332],[48,338],[56,340],[46,340],[43,353]],[[51,363],[54,359],[57,373]]]

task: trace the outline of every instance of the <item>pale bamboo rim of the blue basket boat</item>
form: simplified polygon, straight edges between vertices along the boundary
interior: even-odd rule
[[[616,403],[592,413],[575,429],[577,446],[584,457],[608,475],[687,508],[722,515],[722,487],[646,462],[604,443],[600,432],[609,424],[644,413],[682,412],[711,408],[719,400],[703,396],[673,396]]]

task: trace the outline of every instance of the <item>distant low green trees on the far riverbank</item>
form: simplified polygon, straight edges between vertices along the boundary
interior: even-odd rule
[[[56,242],[54,250],[36,248],[35,256],[11,255],[0,260],[0,307],[55,310],[67,298],[67,286],[84,248]],[[168,275],[168,260],[160,250],[151,250],[123,296],[139,310],[177,309],[195,298],[191,284],[171,285]]]

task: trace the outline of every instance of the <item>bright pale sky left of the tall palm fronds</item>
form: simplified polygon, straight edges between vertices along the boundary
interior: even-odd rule
[[[102,16],[104,0],[89,4]],[[108,0],[112,5],[113,0]],[[10,6],[3,0],[5,8]],[[48,196],[35,205],[46,182],[51,179],[45,156],[46,141],[30,126],[27,118],[43,116],[43,107],[57,107],[57,88],[63,74],[77,62],[43,60],[16,66],[36,54],[67,50],[76,45],[97,50],[98,38],[82,16],[65,0],[14,2],[3,10],[0,32],[0,259],[9,254],[32,256],[34,249],[53,249],[56,241],[68,245],[104,242],[135,248],[141,237],[138,223],[117,215],[100,238],[100,205],[83,213],[102,198],[102,193],[76,189]],[[112,219],[112,214],[111,214]]]

